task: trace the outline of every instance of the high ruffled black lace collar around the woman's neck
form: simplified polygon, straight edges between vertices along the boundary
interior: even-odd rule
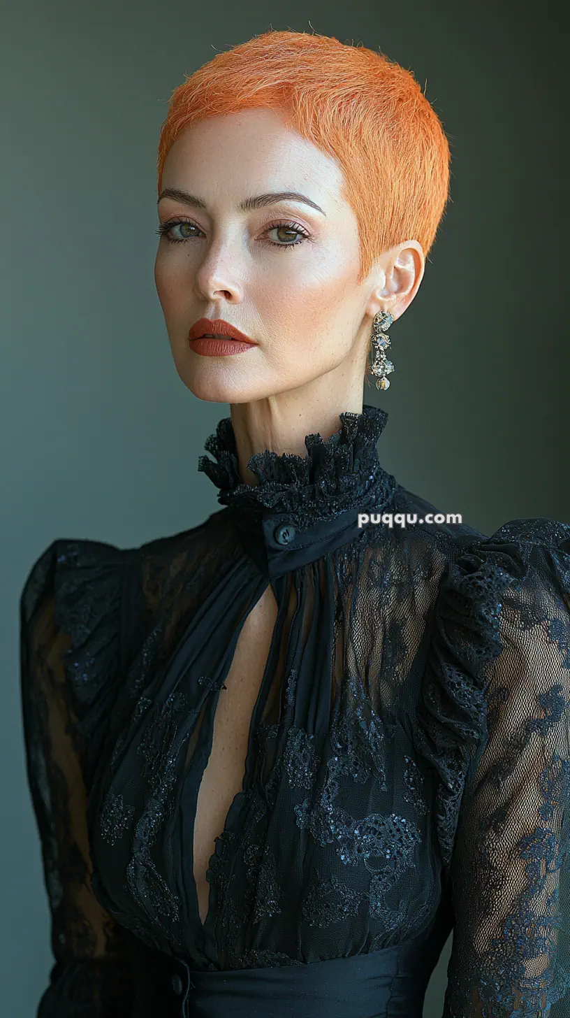
[[[364,403],[361,413],[344,411],[341,427],[326,441],[306,435],[307,455],[255,453],[247,466],[258,485],[243,484],[237,460],[231,417],[224,417],[205,443],[208,456],[198,470],[219,489],[218,501],[231,506],[242,520],[259,519],[268,510],[285,513],[297,527],[332,519],[346,509],[382,511],[392,498],[396,482],[383,469],[377,443],[388,413]]]

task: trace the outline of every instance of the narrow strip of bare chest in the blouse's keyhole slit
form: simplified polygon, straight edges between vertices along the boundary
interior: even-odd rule
[[[206,872],[215,840],[222,834],[231,803],[242,789],[251,715],[276,618],[277,603],[268,587],[243,623],[216,708],[212,749],[202,777],[194,818],[193,876],[203,923],[210,893]]]

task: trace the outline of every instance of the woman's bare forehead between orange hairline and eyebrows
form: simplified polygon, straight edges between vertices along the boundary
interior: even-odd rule
[[[253,109],[183,128],[165,160],[162,185],[236,197],[304,188],[333,209],[344,205],[343,179],[336,160],[288,127],[280,113]]]

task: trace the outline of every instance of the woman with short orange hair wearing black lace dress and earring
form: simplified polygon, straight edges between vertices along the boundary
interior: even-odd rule
[[[384,56],[270,32],[174,92],[158,178],[176,369],[230,404],[198,463],[223,508],[55,541],[22,592],[39,1018],[419,1018],[452,929],[446,1018],[560,1018],[570,526],[434,520],[362,405],[442,125]]]

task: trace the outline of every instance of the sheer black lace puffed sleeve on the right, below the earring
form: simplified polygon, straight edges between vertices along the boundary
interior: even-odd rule
[[[568,1018],[570,526],[513,520],[459,551],[423,694],[454,915],[444,1018]]]

